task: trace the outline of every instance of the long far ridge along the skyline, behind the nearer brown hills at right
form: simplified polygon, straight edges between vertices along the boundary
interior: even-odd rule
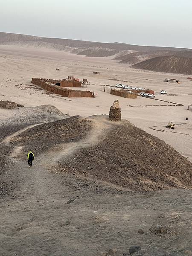
[[[182,51],[183,48],[172,47],[152,47],[152,46],[140,46],[122,43],[101,43],[90,42],[81,40],[71,40],[62,38],[45,38],[30,35],[20,35],[0,32],[0,44],[18,44],[18,45],[34,45],[38,47],[52,47],[54,49],[63,50],[65,47],[69,47],[69,50],[79,49],[79,54],[86,56],[103,57],[109,56],[113,53],[119,53],[123,51],[139,51],[139,52],[154,52],[154,51]],[[64,48],[63,48],[64,47]],[[99,48],[99,50],[98,50]]]

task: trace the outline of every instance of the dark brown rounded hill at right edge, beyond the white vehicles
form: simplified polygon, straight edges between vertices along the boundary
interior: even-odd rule
[[[132,68],[165,73],[192,74],[192,58],[164,56],[137,63]]]

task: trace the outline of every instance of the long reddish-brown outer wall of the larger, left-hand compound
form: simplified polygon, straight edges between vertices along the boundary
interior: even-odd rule
[[[50,82],[47,82],[50,81]],[[51,93],[60,94],[64,97],[94,97],[93,93],[90,91],[81,91],[81,90],[71,90],[65,87],[60,87],[55,84],[51,84],[51,81],[54,80],[41,80],[38,78],[32,78],[32,84],[38,85],[44,90],[47,90]]]

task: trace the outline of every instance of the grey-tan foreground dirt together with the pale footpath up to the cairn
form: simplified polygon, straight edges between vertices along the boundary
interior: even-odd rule
[[[55,172],[57,161],[96,144],[107,131],[108,124],[94,117],[93,129],[86,138],[52,148],[47,158],[39,155],[32,169],[27,162],[12,157],[7,178],[15,175],[19,186],[11,196],[1,199],[0,255],[99,256],[116,247],[118,256],[122,256],[136,244],[146,250],[141,255],[162,256],[166,250],[180,250],[172,255],[183,256],[186,248],[190,249],[190,191],[118,193],[108,190],[108,184],[102,188],[97,184],[97,190],[93,190],[93,182]],[[172,235],[151,234],[151,225],[157,223],[169,224]],[[145,233],[138,234],[138,228]]]

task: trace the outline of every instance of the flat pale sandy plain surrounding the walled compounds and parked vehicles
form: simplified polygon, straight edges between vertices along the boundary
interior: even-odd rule
[[[55,71],[57,67],[60,71]],[[95,70],[100,74],[94,75]],[[30,83],[32,77],[63,79],[68,75],[79,79],[87,78],[90,85],[82,90],[94,91],[97,97],[64,98],[46,93]],[[163,82],[168,77],[179,79],[182,83]],[[157,99],[180,103],[184,106],[168,106],[166,102],[142,97],[124,99],[103,92],[102,86],[92,85],[117,83],[111,79],[119,82],[130,81],[131,83],[124,82],[124,84],[154,89]],[[162,96],[159,93],[160,90],[166,90],[168,94]],[[192,104],[192,81],[186,80],[185,75],[133,70],[126,64],[118,64],[111,60],[111,57],[93,58],[52,49],[0,46],[0,100],[11,100],[27,107],[51,104],[71,116],[90,116],[108,114],[115,99],[120,102],[123,119],[128,119],[134,125],[164,140],[192,161],[192,111],[187,111],[187,106]],[[130,107],[130,105],[167,106]],[[14,115],[14,111],[0,109],[0,119],[7,115]],[[178,124],[174,131],[165,128],[169,120]],[[157,131],[161,129],[166,132]]]

